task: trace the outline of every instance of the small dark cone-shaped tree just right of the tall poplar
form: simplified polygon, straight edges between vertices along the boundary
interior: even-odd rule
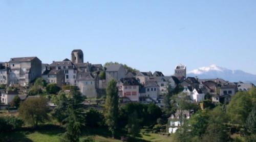
[[[138,113],[136,110],[132,113],[132,115],[129,116],[129,121],[126,128],[127,128],[127,132],[132,137],[136,137],[140,133]]]

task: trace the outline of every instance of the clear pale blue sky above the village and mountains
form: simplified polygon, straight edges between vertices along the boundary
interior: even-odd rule
[[[0,1],[0,61],[37,56],[173,74],[217,64],[256,74],[256,1]]]

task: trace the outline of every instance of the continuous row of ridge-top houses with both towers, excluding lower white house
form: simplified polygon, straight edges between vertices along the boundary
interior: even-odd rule
[[[28,86],[36,78],[42,77],[48,83],[58,86],[78,86],[88,98],[100,96],[102,89],[111,80],[117,81],[119,97],[123,101],[161,103],[167,88],[183,87],[183,93],[192,101],[201,102],[205,94],[213,95],[213,102],[228,101],[238,90],[248,90],[253,84],[229,83],[222,79],[198,79],[186,77],[186,66],[177,65],[173,76],[164,76],[161,72],[130,73],[121,64],[103,67],[101,64],[83,62],[81,50],[73,50],[71,59],[42,64],[37,57],[11,58],[0,63],[0,84]],[[104,73],[105,78],[99,74]]]

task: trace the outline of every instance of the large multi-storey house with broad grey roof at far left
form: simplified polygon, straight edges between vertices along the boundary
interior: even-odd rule
[[[41,64],[37,57],[11,58],[8,63],[10,84],[28,86],[31,81],[41,77]]]

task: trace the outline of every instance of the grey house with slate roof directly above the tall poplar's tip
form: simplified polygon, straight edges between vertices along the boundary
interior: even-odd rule
[[[109,65],[106,67],[106,82],[109,82],[111,79],[119,81],[121,78],[124,78],[126,70],[121,64]]]

